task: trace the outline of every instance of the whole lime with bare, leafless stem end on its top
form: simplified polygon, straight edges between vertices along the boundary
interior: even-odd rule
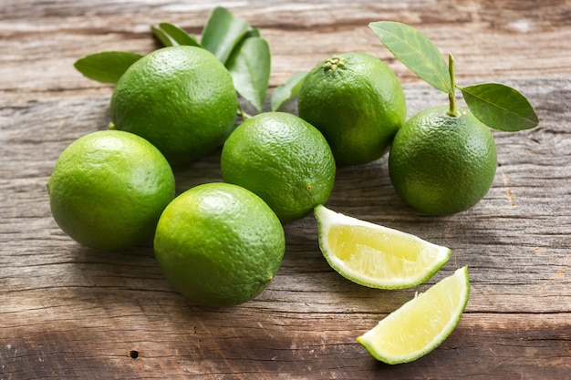
[[[397,77],[365,53],[320,62],[307,74],[297,103],[299,116],[327,139],[337,165],[379,159],[407,114]]]

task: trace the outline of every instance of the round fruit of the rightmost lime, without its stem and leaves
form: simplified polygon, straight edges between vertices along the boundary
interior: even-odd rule
[[[467,109],[428,108],[400,128],[389,154],[389,175],[400,197],[433,215],[470,209],[492,186],[496,152],[490,128]]]

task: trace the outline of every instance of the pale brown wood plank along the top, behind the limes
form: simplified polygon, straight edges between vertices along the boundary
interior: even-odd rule
[[[69,91],[100,88],[82,80],[72,67],[78,57],[114,49],[149,52],[156,47],[149,26],[161,21],[200,35],[213,5],[109,1],[94,6],[85,1],[40,5],[32,0],[9,1],[0,10],[0,36],[9,52],[0,57],[2,91],[12,96],[37,91],[64,96]],[[562,44],[571,37],[565,27],[571,6],[565,0],[333,2],[293,8],[279,2],[238,2],[226,6],[262,28],[272,48],[274,86],[284,83],[292,72],[351,50],[386,59],[403,81],[416,80],[369,30],[369,22],[383,19],[420,27],[443,52],[454,54],[459,82],[469,77],[569,75],[571,52]],[[538,54],[538,49],[548,54]],[[17,76],[11,71],[15,65]]]

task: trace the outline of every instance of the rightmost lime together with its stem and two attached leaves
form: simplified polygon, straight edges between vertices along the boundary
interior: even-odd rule
[[[537,115],[517,90],[487,83],[459,87],[454,60],[420,31],[396,22],[369,25],[381,42],[432,87],[448,94],[449,107],[421,110],[400,128],[389,153],[390,180],[413,208],[434,215],[465,211],[491,188],[496,149],[489,128],[534,128]],[[455,88],[468,109],[457,108]]]

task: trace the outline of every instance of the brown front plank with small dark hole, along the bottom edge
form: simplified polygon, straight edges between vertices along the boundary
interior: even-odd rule
[[[106,303],[105,296],[86,298]],[[26,326],[18,340],[3,347],[12,359],[3,362],[6,372],[12,378],[204,379],[565,379],[569,374],[569,331],[553,315],[510,314],[498,320],[467,313],[437,351],[409,365],[389,366],[372,359],[353,338],[377,316],[304,313],[292,318],[257,302],[242,313],[194,308],[192,315],[177,312],[180,303],[161,302],[171,311],[164,315],[141,305],[142,298],[144,293],[130,293],[119,315],[87,310],[89,324],[58,321],[49,331]],[[132,329],[132,313],[148,315],[144,329]],[[107,318],[113,320],[111,330],[99,322]],[[20,332],[17,326],[13,330]]]

